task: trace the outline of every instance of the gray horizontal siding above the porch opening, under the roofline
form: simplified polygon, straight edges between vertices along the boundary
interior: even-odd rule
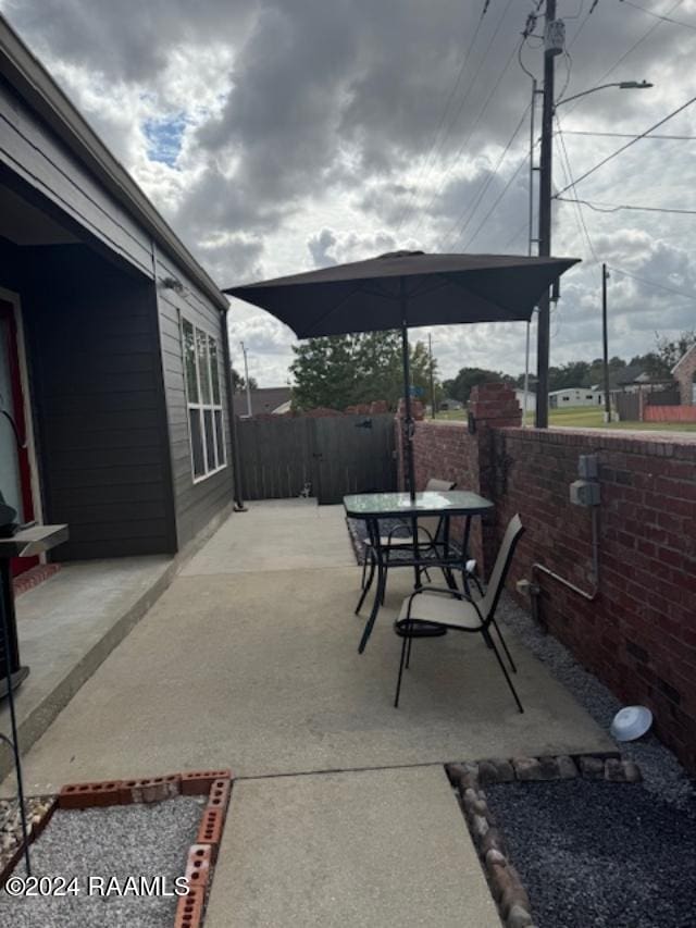
[[[149,236],[1,78],[0,162],[112,251],[152,275]]]

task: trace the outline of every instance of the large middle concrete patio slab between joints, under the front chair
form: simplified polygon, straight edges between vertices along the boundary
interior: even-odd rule
[[[399,709],[395,571],[363,655],[359,568],[178,577],[25,760],[27,788],[232,766],[244,777],[612,750],[510,641],[521,715],[478,636],[417,642]]]

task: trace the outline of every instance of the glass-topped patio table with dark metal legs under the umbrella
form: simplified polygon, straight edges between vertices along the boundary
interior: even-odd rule
[[[380,605],[384,597],[387,568],[389,567],[389,550],[381,542],[380,520],[401,519],[411,524],[411,537],[413,540],[412,553],[409,558],[400,558],[399,566],[412,567],[415,578],[415,589],[421,586],[421,572],[428,567],[443,568],[447,582],[456,589],[451,569],[460,569],[465,577],[467,552],[469,549],[469,537],[471,534],[471,520],[474,516],[483,516],[494,508],[494,504],[477,493],[467,490],[426,491],[417,493],[415,499],[411,499],[409,493],[358,493],[344,496],[344,508],[350,519],[361,519],[365,522],[370,546],[374,554],[374,565],[377,570],[377,586],[372,605],[372,610],[365,623],[358,653],[362,654],[372,634]],[[436,543],[428,545],[428,556],[422,556],[422,543],[419,543],[418,519],[424,516],[439,518],[439,527],[436,534]],[[459,550],[450,547],[450,520],[453,517],[464,517],[463,537]],[[437,541],[442,539],[442,541]],[[403,553],[405,546],[399,546]],[[394,564],[393,564],[394,566]],[[426,624],[426,623],[424,623]],[[398,631],[398,628],[397,628]],[[427,629],[423,630],[427,633]]]

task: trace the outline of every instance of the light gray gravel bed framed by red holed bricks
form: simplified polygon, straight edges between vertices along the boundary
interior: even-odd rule
[[[186,856],[207,796],[160,803],[58,809],[30,847],[36,877],[77,878],[78,895],[17,898],[0,890],[0,925],[12,928],[171,928],[175,896],[87,895],[88,877],[166,878],[184,876]],[[24,877],[18,863],[13,876]]]

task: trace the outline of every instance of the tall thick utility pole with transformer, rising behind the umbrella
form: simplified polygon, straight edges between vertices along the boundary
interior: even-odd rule
[[[539,256],[551,253],[551,163],[554,139],[554,77],[555,57],[561,51],[558,36],[555,34],[556,0],[546,0],[545,41],[544,41],[544,109],[542,113],[542,150],[539,159]],[[561,24],[559,23],[559,26]],[[550,300],[549,293],[539,299],[537,330],[537,385],[536,417],[537,429],[548,428],[548,362],[550,343]]]

